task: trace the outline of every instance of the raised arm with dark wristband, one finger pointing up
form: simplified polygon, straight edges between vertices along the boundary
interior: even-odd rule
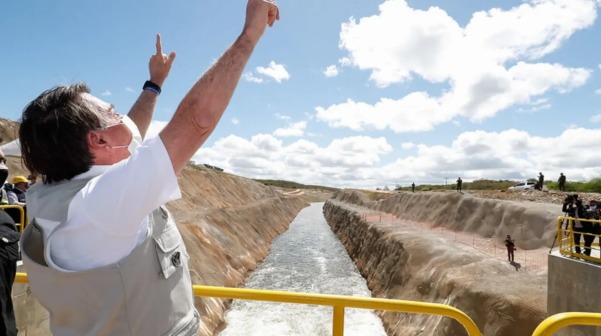
[[[162,87],[165,79],[167,79],[167,76],[169,75],[174,59],[175,52],[171,52],[169,56],[163,54],[161,35],[157,34],[156,53],[150,57],[150,61],[148,62],[150,81],[157,84],[159,87]],[[154,114],[154,107],[158,97],[159,95],[156,92],[143,90],[142,93],[140,93],[140,97],[138,97],[138,100],[136,100],[127,114],[128,117],[136,123],[136,126],[138,126],[142,138],[146,136],[148,126],[150,126],[150,122],[152,121],[152,115]]]

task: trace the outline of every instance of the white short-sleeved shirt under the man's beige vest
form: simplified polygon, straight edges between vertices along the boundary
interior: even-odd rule
[[[158,136],[146,140],[126,160],[93,166],[74,177],[84,178],[92,179],[75,195],[66,222],[55,232],[60,223],[36,217],[44,240],[52,239],[52,259],[65,271],[102,267],[128,256],[148,235],[149,214],[181,198],[177,176]]]

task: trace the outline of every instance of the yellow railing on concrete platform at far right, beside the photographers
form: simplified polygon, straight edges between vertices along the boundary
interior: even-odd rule
[[[577,257],[596,263],[601,263],[601,250],[599,244],[594,244],[596,238],[599,237],[597,233],[581,232],[574,229],[574,221],[578,220],[581,222],[590,222],[591,225],[595,223],[601,224],[600,220],[595,219],[582,219],[560,216],[557,218],[557,242],[559,246],[559,253],[565,256]],[[580,242],[576,244],[574,241],[574,234],[580,234]],[[585,246],[584,237],[589,237],[593,244]],[[580,253],[576,253],[576,247],[579,247]],[[586,255],[584,252],[586,249],[590,249],[591,255]],[[593,255],[595,254],[595,255]],[[598,255],[598,256],[597,256]]]

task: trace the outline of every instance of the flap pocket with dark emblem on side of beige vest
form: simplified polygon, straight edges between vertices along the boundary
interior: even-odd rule
[[[157,257],[163,270],[163,276],[168,279],[173,273],[188,262],[188,254],[184,248],[182,237],[176,227],[164,231],[159,237],[153,237],[156,243]]]

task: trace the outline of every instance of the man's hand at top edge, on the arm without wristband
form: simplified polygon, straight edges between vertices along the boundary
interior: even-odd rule
[[[275,0],[248,0],[243,33],[258,41],[263,36],[265,27],[273,27],[279,19],[280,10]]]

